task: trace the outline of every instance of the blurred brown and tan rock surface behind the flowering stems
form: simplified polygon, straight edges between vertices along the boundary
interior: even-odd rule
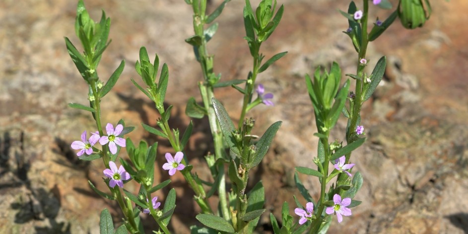
[[[212,0],[209,11],[221,0]],[[257,1],[254,1],[257,2]],[[395,0],[393,0],[394,5]],[[252,186],[262,180],[266,188],[267,213],[280,219],[280,207],[292,195],[300,197],[293,181],[294,166],[315,167],[317,139],[312,105],[304,74],[317,65],[336,60],[344,73],[355,72],[356,54],[341,31],[346,20],[337,9],[347,0],[287,0],[282,22],[264,43],[268,57],[283,51],[258,81],[273,92],[274,107],[260,106],[250,114],[257,120],[258,134],[282,120],[265,160],[252,176]],[[433,0],[433,15],[424,28],[404,30],[392,25],[368,50],[369,69],[385,55],[388,67],[383,84],[363,107],[365,146],[353,154],[355,171],[364,177],[356,199],[364,201],[351,217],[334,224],[329,233],[431,234],[468,233],[468,4],[465,0]],[[138,76],[134,62],[145,46],[169,66],[166,95],[174,105],[170,124],[184,130],[190,119],[185,103],[199,98],[196,83],[201,71],[192,48],[191,7],[183,0],[85,1],[93,19],[101,9],[112,19],[113,40],[98,68],[106,80],[122,59],[125,70],[103,99],[103,121],[124,118],[136,130],[128,135],[152,143],[159,141],[159,169],[169,144],[145,132],[140,122],[155,125],[153,104],[131,83]],[[254,3],[255,4],[255,3]],[[357,1],[357,4],[361,4]],[[233,0],[216,20],[219,30],[209,43],[215,55],[215,71],[224,80],[244,79],[252,60],[244,36],[244,1]],[[118,207],[96,195],[88,186],[101,189],[101,162],[80,162],[70,148],[83,130],[94,129],[92,117],[67,107],[86,104],[87,86],[65,48],[64,36],[75,44],[76,1],[0,1],[0,233],[98,233],[99,213],[107,207],[119,222]],[[370,19],[390,11],[371,6]],[[240,94],[223,88],[216,97],[233,118],[239,116]],[[206,168],[203,155],[211,149],[206,119],[194,120],[195,132],[187,153],[201,177]],[[345,120],[338,122],[333,137],[344,140]],[[123,153],[125,155],[125,153]],[[165,180],[166,171],[156,170]],[[318,181],[301,177],[317,199]],[[193,192],[180,174],[172,177],[178,207],[171,221],[174,233],[188,233],[198,212]],[[133,182],[126,184],[136,190]],[[158,191],[162,202],[166,190]],[[301,200],[304,202],[304,200]],[[215,201],[213,201],[214,203]],[[271,230],[268,214],[262,216],[259,233]],[[151,222],[144,220],[148,228]],[[335,222],[335,221],[334,221]],[[148,229],[149,230],[149,229]]]

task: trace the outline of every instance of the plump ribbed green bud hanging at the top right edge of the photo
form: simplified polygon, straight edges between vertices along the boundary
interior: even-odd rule
[[[429,0],[400,0],[398,5],[398,17],[407,29],[422,27],[431,16],[431,12]]]

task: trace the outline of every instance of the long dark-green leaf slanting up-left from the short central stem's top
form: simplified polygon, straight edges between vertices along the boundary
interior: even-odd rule
[[[237,155],[240,155],[239,149],[237,148],[236,140],[232,135],[232,132],[236,129],[234,127],[234,123],[231,120],[231,117],[224,109],[223,105],[216,100],[215,98],[211,99],[213,103],[214,112],[216,113],[216,118],[218,119],[219,125],[221,127],[221,131],[223,132],[224,139],[226,140],[227,145],[229,148]]]

